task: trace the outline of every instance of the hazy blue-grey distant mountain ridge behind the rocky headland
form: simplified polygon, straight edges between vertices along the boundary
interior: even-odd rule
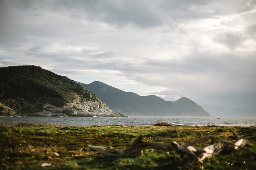
[[[90,84],[76,83],[93,92],[113,111],[126,115],[210,116],[202,107],[185,97],[170,102],[155,95],[140,96],[125,92],[98,81]]]

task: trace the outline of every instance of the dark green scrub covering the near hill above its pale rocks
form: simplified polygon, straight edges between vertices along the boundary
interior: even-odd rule
[[[17,114],[41,111],[45,103],[63,106],[72,103],[75,95],[102,103],[73,80],[37,66],[2,67],[0,79],[0,103]]]

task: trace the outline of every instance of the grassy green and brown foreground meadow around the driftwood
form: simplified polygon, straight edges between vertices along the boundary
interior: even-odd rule
[[[256,155],[241,149],[193,163],[175,152],[166,154],[161,150],[145,149],[135,158],[115,158],[87,148],[95,145],[125,149],[139,134],[144,135],[144,141],[162,143],[189,142],[205,135],[234,142],[229,128],[250,142],[246,149],[256,152],[256,127],[2,124],[0,169],[256,169]]]

